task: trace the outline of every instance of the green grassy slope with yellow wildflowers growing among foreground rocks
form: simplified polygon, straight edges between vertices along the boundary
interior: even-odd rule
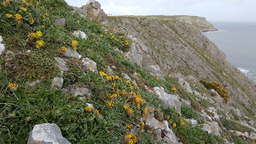
[[[57,24],[55,20],[60,18],[66,20],[65,25]],[[0,22],[6,49],[0,60],[0,143],[27,143],[34,125],[42,123],[57,124],[71,143],[159,143],[156,131],[140,121],[145,120],[148,108],[154,109],[159,124],[168,121],[183,143],[224,142],[204,132],[202,125],[193,127],[184,120],[204,123],[195,109],[208,107],[208,102],[197,101],[201,98],[188,93],[174,78],[160,80],[124,59],[115,49],[127,51],[132,43],[129,38],[80,17],[65,1],[6,0],[0,5]],[[81,30],[89,38],[73,36],[73,30]],[[63,47],[72,47],[82,58],[95,61],[100,74],[85,70],[81,60],[63,55]],[[54,77],[61,77],[55,57],[64,59],[68,67],[62,90],[50,86]],[[108,65],[116,67],[114,76],[104,73]],[[140,76],[135,77],[135,72]],[[122,73],[136,80],[138,87],[119,77]],[[44,83],[35,87],[27,84],[41,79]],[[190,100],[192,108],[184,107],[181,114],[176,108],[166,108],[144,85],[149,89],[162,86],[169,94]],[[79,95],[68,92],[72,87],[86,87],[91,96],[79,100]],[[132,137],[131,130],[136,131]],[[236,139],[243,142],[234,136]]]

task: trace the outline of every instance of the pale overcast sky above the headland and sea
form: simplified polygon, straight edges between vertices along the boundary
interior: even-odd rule
[[[87,0],[66,0],[81,7]],[[256,0],[98,0],[113,15],[191,15],[206,20],[256,21]]]

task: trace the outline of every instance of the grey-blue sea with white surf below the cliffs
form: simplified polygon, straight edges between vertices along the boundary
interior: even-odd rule
[[[227,60],[256,84],[256,22],[210,21],[218,31],[203,32]]]

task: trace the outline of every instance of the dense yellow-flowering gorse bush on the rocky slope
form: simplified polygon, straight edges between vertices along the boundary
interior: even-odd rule
[[[224,103],[228,103],[228,101],[230,100],[228,91],[223,87],[221,83],[209,81],[207,82],[205,80],[200,80],[200,83],[204,84],[207,90],[213,89],[214,91],[218,92],[218,94],[223,98]]]

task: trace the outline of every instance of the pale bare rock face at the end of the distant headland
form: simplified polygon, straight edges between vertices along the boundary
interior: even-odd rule
[[[183,21],[195,26],[200,32],[218,30],[214,28],[214,26],[209,21],[207,21],[205,17],[197,17],[197,16],[175,16],[175,17],[179,21]]]

